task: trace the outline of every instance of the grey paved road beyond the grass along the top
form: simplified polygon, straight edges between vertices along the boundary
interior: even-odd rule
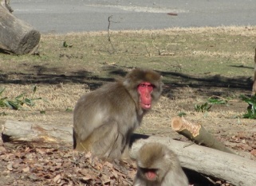
[[[11,0],[14,15],[41,33],[256,25],[255,0]],[[167,13],[177,13],[170,16]]]

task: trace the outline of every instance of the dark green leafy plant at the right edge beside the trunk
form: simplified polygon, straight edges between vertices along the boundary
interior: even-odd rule
[[[256,95],[252,95],[251,97],[248,97],[246,95],[240,95],[239,98],[242,99],[242,101],[249,104],[249,106],[247,107],[247,113],[242,114],[242,118],[255,119],[256,118]]]

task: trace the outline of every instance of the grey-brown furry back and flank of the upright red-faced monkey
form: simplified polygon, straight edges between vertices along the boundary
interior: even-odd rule
[[[139,125],[136,113],[136,103],[120,82],[107,85],[91,91],[77,101],[74,109],[74,131],[82,140],[87,138],[94,129],[118,121],[120,133],[125,134]]]

